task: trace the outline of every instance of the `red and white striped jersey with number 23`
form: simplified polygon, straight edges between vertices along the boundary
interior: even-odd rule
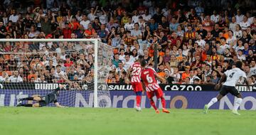
[[[141,82],[141,73],[142,73],[142,67],[139,64],[139,62],[133,63],[131,65],[132,68],[132,78],[131,78],[131,82]]]

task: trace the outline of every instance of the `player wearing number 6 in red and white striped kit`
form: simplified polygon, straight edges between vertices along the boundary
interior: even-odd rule
[[[166,83],[166,80],[158,75],[156,71],[153,68],[146,68],[146,61],[141,60],[141,66],[142,66],[142,81],[144,86],[146,87],[146,95],[149,97],[150,104],[154,109],[156,110],[156,113],[159,114],[159,109],[156,108],[156,104],[154,103],[153,97],[156,95],[157,99],[161,99],[162,104],[162,112],[170,113],[166,109],[166,101],[164,99],[164,92],[161,90],[161,87],[157,83],[157,79],[159,79],[161,82]]]

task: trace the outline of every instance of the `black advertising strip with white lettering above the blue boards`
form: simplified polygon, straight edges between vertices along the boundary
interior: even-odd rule
[[[58,83],[0,83],[0,90],[54,90],[58,87]],[[93,88],[93,84],[80,83],[82,90],[90,90]],[[102,85],[99,85],[102,87]],[[105,85],[104,85],[105,87]],[[215,91],[214,85],[165,85],[160,84],[160,87],[164,91]],[[247,87],[240,85],[236,87],[240,92],[256,92],[255,86],[250,86],[250,90]],[[130,91],[132,85],[125,84],[108,84],[108,89]]]

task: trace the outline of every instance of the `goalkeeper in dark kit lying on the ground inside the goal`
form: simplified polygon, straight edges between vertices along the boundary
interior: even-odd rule
[[[16,107],[44,107],[47,106],[50,103],[54,103],[56,107],[64,107],[60,105],[57,101],[57,97],[60,95],[60,90],[65,89],[65,85],[59,85],[58,88],[53,90],[53,92],[50,92],[46,96],[38,96],[38,97],[26,97],[18,99],[18,104]],[[22,104],[23,100],[33,100],[36,103],[34,104]]]

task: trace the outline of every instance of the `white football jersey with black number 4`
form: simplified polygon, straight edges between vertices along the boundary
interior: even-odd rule
[[[227,80],[223,84],[225,86],[235,87],[235,83],[238,82],[240,77],[246,77],[245,72],[240,70],[240,68],[233,68],[232,70],[227,70],[224,73],[227,76]]]

